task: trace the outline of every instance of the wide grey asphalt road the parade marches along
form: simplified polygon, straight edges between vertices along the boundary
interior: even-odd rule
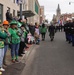
[[[21,75],[74,75],[74,47],[65,41],[64,32],[57,32],[53,42],[47,34],[25,64]]]

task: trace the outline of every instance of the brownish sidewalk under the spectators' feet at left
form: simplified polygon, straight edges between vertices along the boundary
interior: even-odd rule
[[[6,55],[6,63],[8,66],[6,67],[5,72],[3,72],[2,75],[19,75],[22,72],[23,68],[25,67],[25,62],[34,48],[35,48],[34,44],[29,45],[29,49],[26,49],[23,57],[19,57],[19,63],[11,62],[11,53],[10,50],[8,50]]]

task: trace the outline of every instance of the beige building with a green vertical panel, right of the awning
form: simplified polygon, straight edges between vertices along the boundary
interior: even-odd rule
[[[40,22],[40,5],[38,0],[28,0],[27,2],[27,10],[31,10],[35,15],[32,17],[28,17],[28,22],[35,24],[35,22]]]

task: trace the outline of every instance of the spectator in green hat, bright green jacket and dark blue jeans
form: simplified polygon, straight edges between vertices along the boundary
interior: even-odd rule
[[[9,32],[11,34],[11,57],[12,62],[18,62],[18,50],[20,44],[20,33],[17,31],[17,22],[15,20],[11,21]]]

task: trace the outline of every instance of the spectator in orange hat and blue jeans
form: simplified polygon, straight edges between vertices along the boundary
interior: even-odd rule
[[[4,32],[7,34],[7,38],[4,39],[4,58],[3,58],[3,65],[7,66],[6,64],[6,52],[8,50],[8,45],[9,45],[9,36],[10,36],[10,33],[8,31],[8,28],[9,28],[9,22],[8,21],[4,21],[3,22],[3,28],[4,28]]]

